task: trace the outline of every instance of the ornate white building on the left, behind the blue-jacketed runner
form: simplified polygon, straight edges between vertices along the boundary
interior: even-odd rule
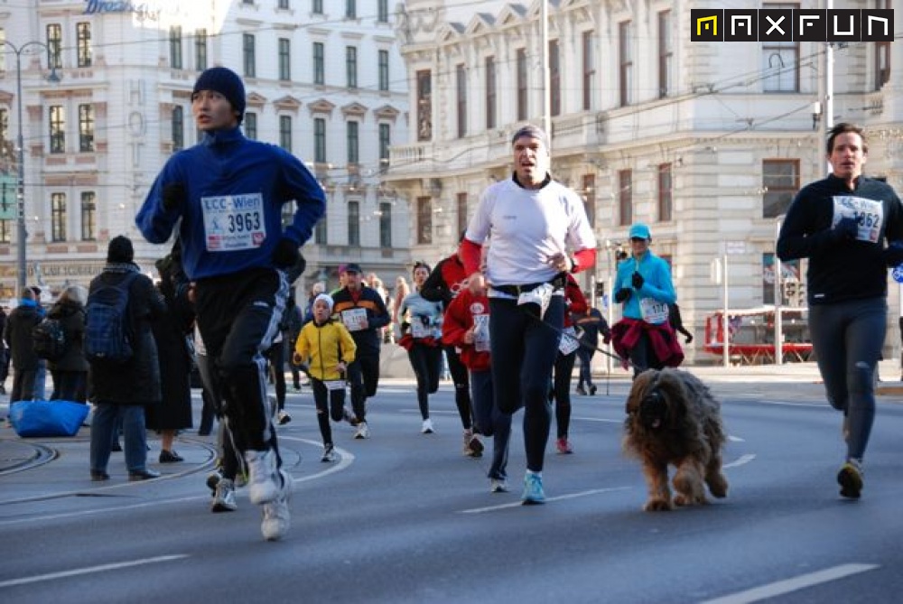
[[[246,135],[296,154],[327,191],[327,217],[303,249],[305,281],[335,283],[338,265],[351,260],[404,273],[406,205],[380,181],[389,146],[408,138],[396,4],[25,0],[0,8],[0,169],[3,183],[15,182],[10,154],[21,126],[28,283],[54,292],[87,284],[118,234],[133,237],[136,261],[153,272],[167,247],[144,243],[135,213],[166,158],[198,140],[191,88],[214,65],[245,79]],[[0,219],[0,299],[14,295],[16,226]]]

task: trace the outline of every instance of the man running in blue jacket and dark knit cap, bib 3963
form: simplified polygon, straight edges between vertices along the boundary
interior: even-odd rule
[[[311,237],[326,200],[291,153],[241,133],[245,102],[235,72],[214,67],[200,74],[191,112],[203,136],[163,166],[135,224],[152,243],[166,242],[179,225],[200,335],[236,448],[247,461],[249,497],[264,506],[261,531],[275,540],[290,523],[292,479],[280,469],[264,351],[288,298],[286,271],[303,270],[298,248]],[[293,220],[283,230],[282,208],[292,202]]]

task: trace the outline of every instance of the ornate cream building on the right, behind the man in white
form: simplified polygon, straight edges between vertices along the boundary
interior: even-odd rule
[[[385,181],[410,200],[412,254],[453,246],[480,192],[508,176],[511,135],[532,122],[550,130],[554,176],[582,195],[599,238],[587,290],[607,289],[615,251],[642,221],[672,264],[697,342],[725,289],[729,309],[773,304],[780,218],[796,190],[826,173],[829,96],[831,121],[867,129],[866,172],[901,190],[903,78],[891,66],[903,65],[903,45],[835,44],[831,77],[824,43],[691,42],[691,9],[711,5],[548,0],[544,44],[544,0],[408,0],[396,27],[416,127],[393,146]],[[900,0],[834,7],[903,14]],[[716,260],[728,261],[727,288],[714,283]],[[783,267],[782,281],[801,271]],[[898,287],[890,292],[896,350]],[[799,293],[778,288],[778,302]]]

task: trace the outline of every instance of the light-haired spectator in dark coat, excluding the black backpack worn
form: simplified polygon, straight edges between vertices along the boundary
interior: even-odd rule
[[[51,401],[87,400],[88,360],[85,358],[85,302],[88,293],[81,285],[70,285],[47,311],[47,316],[62,324],[66,351],[62,358],[48,361],[53,377]]]

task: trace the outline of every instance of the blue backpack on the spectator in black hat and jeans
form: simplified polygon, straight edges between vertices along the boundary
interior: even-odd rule
[[[120,283],[98,282],[85,305],[85,357],[92,363],[126,363],[132,348],[132,321],[128,289],[138,273],[128,273]]]

